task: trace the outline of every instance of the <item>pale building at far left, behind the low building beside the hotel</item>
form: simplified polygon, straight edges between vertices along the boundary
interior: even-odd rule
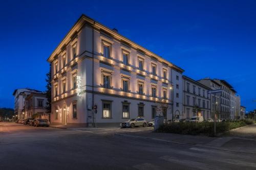
[[[17,119],[25,118],[25,114],[23,114],[25,98],[26,98],[26,95],[30,94],[31,92],[41,92],[41,91],[30,89],[30,88],[19,88],[14,90],[12,95],[14,95],[14,114],[17,117]]]

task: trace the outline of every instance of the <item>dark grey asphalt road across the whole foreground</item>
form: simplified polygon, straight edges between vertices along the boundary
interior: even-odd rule
[[[0,124],[0,169],[256,169],[253,154],[114,133]]]

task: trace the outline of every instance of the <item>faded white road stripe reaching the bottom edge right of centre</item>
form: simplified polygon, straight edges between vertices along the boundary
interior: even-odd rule
[[[180,165],[184,165],[187,167],[202,169],[202,170],[210,170],[210,169],[222,169],[220,167],[212,166],[206,163],[201,163],[197,161],[191,161],[191,160],[185,160],[185,159],[178,159],[176,157],[170,157],[170,156],[163,156],[160,157],[160,159],[172,162],[172,163],[178,163]]]

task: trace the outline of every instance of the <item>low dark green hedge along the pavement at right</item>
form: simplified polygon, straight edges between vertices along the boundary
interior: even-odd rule
[[[227,132],[231,129],[243,127],[246,125],[253,124],[252,120],[235,120],[231,122],[219,122],[216,123],[216,133]],[[165,133],[177,133],[186,135],[208,135],[214,136],[214,123],[213,122],[202,122],[202,123],[171,123],[169,125],[161,126],[157,132]]]

